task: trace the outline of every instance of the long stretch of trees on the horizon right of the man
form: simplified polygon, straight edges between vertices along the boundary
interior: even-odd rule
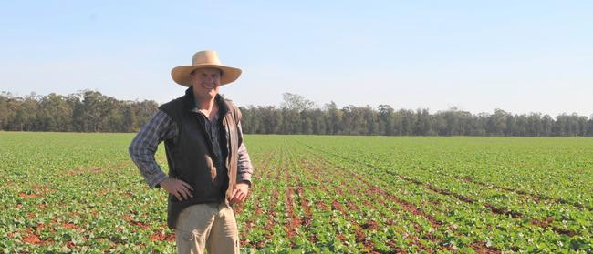
[[[395,110],[389,105],[323,107],[296,94],[285,93],[281,107],[241,107],[245,133],[383,135],[383,136],[593,136],[593,117],[540,113],[494,114],[450,108],[431,114],[428,108]]]

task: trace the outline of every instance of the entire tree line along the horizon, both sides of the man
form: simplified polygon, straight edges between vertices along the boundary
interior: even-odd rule
[[[431,114],[428,108],[395,110],[346,106],[323,107],[285,93],[276,106],[239,107],[246,134],[382,136],[593,136],[593,117],[540,113],[472,114],[457,108]],[[86,90],[68,96],[15,97],[0,93],[0,129],[18,131],[137,132],[157,112],[152,100],[118,100]]]

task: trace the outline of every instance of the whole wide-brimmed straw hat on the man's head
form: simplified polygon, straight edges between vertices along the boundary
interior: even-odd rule
[[[231,66],[223,66],[218,59],[218,53],[213,50],[200,51],[194,54],[191,66],[176,66],[171,70],[171,76],[175,83],[189,87],[192,86],[192,82],[190,81],[192,71],[208,67],[218,68],[223,71],[220,80],[221,86],[229,84],[241,76],[241,69]]]

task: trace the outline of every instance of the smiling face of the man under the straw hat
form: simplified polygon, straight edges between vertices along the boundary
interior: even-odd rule
[[[216,97],[220,88],[221,70],[217,68],[200,68],[192,72],[193,94],[201,100]]]

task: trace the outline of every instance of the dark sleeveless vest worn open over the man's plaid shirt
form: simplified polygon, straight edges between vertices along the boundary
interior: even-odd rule
[[[165,140],[169,177],[178,178],[193,188],[193,198],[179,201],[169,195],[167,223],[170,229],[175,228],[177,217],[183,208],[195,204],[218,203],[230,200],[237,178],[237,151],[240,140],[238,123],[241,112],[231,102],[217,95],[215,103],[219,108],[220,147],[223,152],[225,176],[216,172],[216,155],[213,152],[212,140],[206,128],[205,119],[195,106],[192,87],[185,91],[185,96],[176,98],[159,107],[177,124],[176,140]]]

